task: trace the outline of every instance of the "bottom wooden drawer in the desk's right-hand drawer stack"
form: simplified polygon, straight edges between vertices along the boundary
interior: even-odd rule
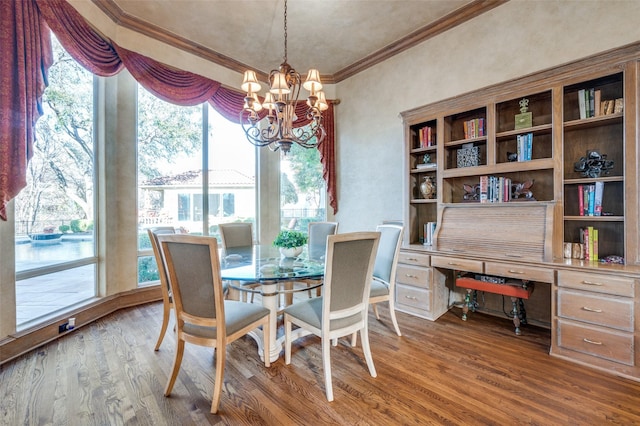
[[[633,365],[633,334],[558,320],[560,347]]]

